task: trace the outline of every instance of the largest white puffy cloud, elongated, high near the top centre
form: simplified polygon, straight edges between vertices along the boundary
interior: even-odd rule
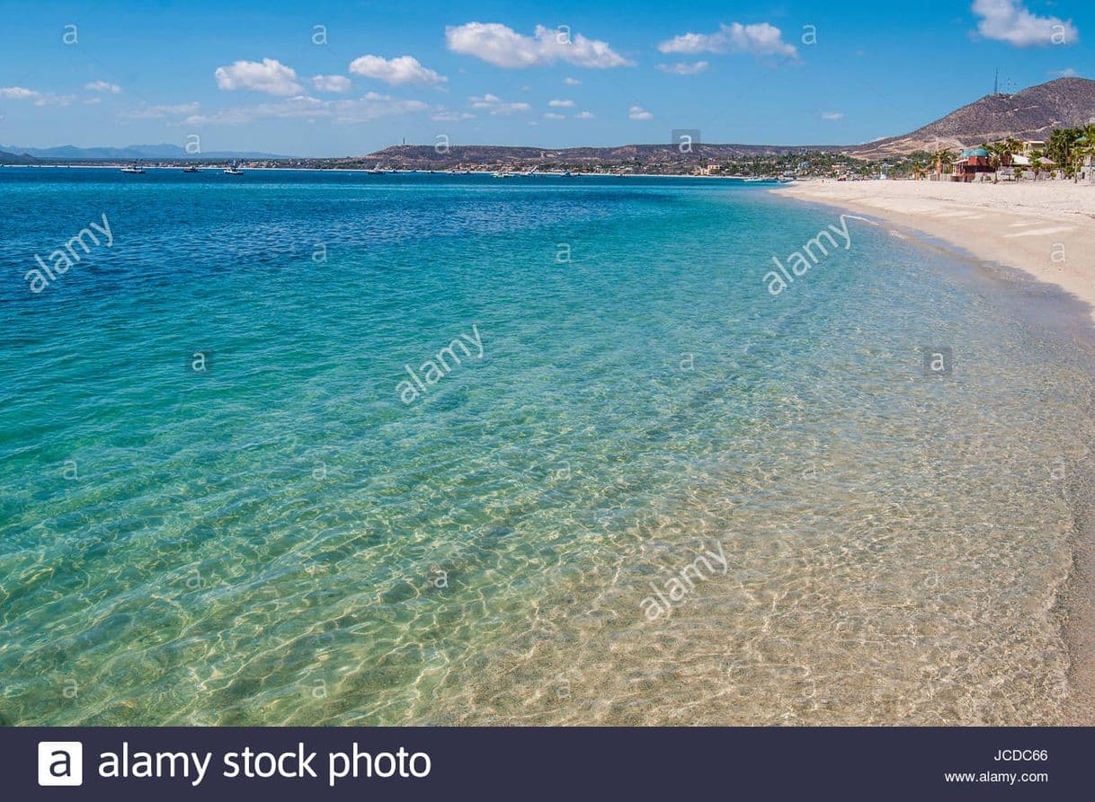
[[[543,67],[555,61],[601,69],[633,66],[607,42],[543,25],[537,25],[532,36],[525,36],[496,22],[469,22],[445,28],[445,38],[453,53],[475,56],[505,69]]]

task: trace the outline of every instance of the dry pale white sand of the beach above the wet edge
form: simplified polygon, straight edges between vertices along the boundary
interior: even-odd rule
[[[1086,302],[1095,322],[1095,185],[805,181],[775,191],[883,218],[1026,270]]]

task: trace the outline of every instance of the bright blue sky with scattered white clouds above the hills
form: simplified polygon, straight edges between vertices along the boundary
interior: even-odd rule
[[[140,7],[146,7],[143,10]],[[1091,0],[0,0],[0,144],[852,144],[1095,78]]]

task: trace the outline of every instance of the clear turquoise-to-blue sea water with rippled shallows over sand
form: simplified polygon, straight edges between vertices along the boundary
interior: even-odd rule
[[[3,168],[0,220],[11,723],[1062,720],[1090,363],[950,257],[851,221],[773,300],[839,220],[701,181]]]

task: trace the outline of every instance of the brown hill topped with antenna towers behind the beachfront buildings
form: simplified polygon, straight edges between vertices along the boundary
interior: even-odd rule
[[[918,150],[969,148],[1007,137],[1048,139],[1053,128],[1074,128],[1093,120],[1095,81],[1059,78],[1011,95],[986,95],[911,133],[850,151],[865,159],[883,159]]]

